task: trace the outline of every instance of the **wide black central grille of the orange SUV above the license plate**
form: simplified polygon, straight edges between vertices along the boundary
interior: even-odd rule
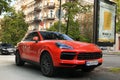
[[[78,60],[90,60],[90,59],[99,59],[102,58],[101,53],[79,53]]]

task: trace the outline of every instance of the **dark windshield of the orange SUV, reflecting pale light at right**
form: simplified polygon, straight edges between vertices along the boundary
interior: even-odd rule
[[[73,40],[65,34],[57,32],[40,32],[44,40]]]

